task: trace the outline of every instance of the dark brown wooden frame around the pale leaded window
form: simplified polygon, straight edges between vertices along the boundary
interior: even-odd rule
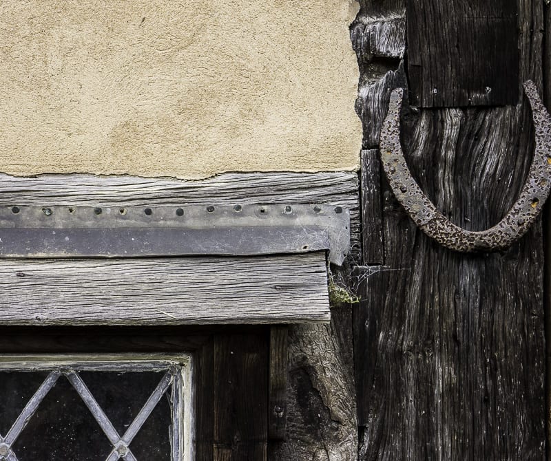
[[[272,424],[269,405],[275,401],[269,387],[271,328],[267,325],[10,327],[4,331],[0,355],[189,354],[194,383],[192,459],[213,461],[228,453],[238,453],[238,459],[266,459]]]

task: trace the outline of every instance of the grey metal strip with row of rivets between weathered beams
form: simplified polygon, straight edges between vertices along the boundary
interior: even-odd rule
[[[341,206],[3,206],[0,257],[267,255],[350,248]]]

